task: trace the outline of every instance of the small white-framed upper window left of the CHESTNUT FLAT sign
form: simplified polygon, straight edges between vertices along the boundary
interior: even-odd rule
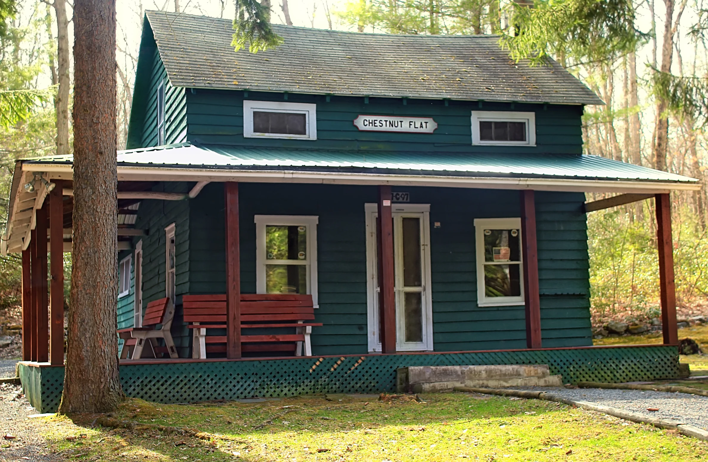
[[[317,105],[244,100],[244,137],[317,139]]]

